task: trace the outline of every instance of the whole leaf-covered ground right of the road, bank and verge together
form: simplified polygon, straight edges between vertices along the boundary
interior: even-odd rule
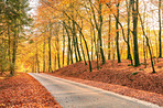
[[[78,62],[50,75],[163,106],[163,58],[155,64],[155,74],[151,74],[152,68],[150,60],[148,60],[146,68],[144,68],[144,65],[139,67],[128,66],[129,61],[122,61],[122,63],[107,61],[97,69],[96,62],[91,62],[94,68],[91,73],[89,73],[88,65]]]

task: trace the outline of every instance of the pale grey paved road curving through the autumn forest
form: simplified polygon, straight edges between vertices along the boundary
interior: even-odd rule
[[[64,108],[161,108],[151,102],[47,74],[29,74],[37,79]]]

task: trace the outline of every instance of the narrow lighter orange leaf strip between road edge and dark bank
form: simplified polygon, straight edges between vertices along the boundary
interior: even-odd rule
[[[48,74],[48,75],[54,75],[54,74]],[[54,76],[69,79],[69,80],[77,82],[77,83],[82,83],[82,84],[86,84],[86,85],[101,88],[105,90],[113,91],[120,95],[133,97],[140,100],[145,100],[149,102],[156,104],[159,106],[163,106],[163,95],[162,94],[139,90],[139,89],[133,89],[133,88],[126,87],[126,86],[113,85],[113,84],[96,82],[96,80],[87,80],[87,79],[82,79],[82,78],[66,77],[66,76],[58,76],[58,75],[54,75]]]

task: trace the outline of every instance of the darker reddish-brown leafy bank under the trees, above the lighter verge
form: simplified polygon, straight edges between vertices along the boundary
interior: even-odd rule
[[[148,61],[148,63],[150,61]],[[91,65],[95,69],[89,73],[88,65],[85,66],[83,62],[79,62],[58,69],[57,75],[111,83],[122,86],[126,85],[130,88],[163,94],[162,72],[160,72],[159,75],[151,75],[146,73],[149,71],[141,71],[143,65],[140,67],[132,67],[128,66],[128,64],[130,64],[129,61],[122,61],[122,63],[117,63],[117,61],[115,61],[115,66],[112,66],[112,61],[107,61],[105,65],[100,65],[100,69],[98,71],[96,68],[96,62],[93,61]],[[160,65],[162,64],[163,60],[162,62],[160,61]],[[148,66],[148,68],[150,68],[150,66]],[[132,75],[134,72],[140,73]]]

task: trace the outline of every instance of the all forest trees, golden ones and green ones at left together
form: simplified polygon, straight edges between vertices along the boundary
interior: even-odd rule
[[[8,50],[2,60],[13,66],[18,39],[29,23],[23,1],[1,2],[1,47]],[[161,0],[39,0],[33,32],[21,43],[18,64],[51,73],[84,61],[91,72],[91,61],[99,68],[107,60],[129,60],[139,66],[144,58],[146,66],[149,57],[155,73],[153,57],[162,57],[162,12]]]

